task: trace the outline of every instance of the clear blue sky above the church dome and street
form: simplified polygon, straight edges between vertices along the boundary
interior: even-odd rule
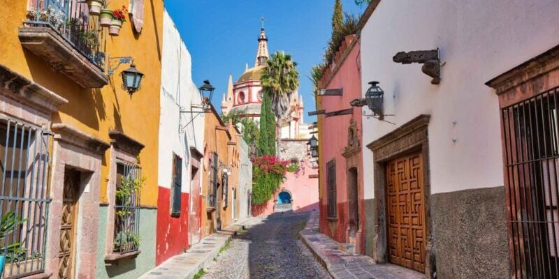
[[[209,79],[216,91],[212,103],[221,105],[228,75],[233,81],[254,66],[261,17],[266,17],[270,55],[284,50],[293,55],[300,74],[299,93],[305,104],[305,122],[314,110],[310,68],[321,61],[331,36],[334,0],[166,0],[165,6],[192,56],[192,75],[200,85]],[[344,12],[361,14],[354,0],[342,0]]]

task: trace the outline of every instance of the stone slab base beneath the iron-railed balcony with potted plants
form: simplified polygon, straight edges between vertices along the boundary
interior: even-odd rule
[[[22,46],[41,57],[83,88],[101,88],[109,83],[103,70],[50,27],[20,27]]]

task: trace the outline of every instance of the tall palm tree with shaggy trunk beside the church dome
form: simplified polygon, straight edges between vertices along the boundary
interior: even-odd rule
[[[275,52],[267,61],[267,67],[260,78],[264,93],[270,96],[272,111],[277,119],[277,155],[279,156],[279,140],[282,138],[282,121],[291,114],[291,93],[299,86],[297,63],[291,60],[291,54]]]

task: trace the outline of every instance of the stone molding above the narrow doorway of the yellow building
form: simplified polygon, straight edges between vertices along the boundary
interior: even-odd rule
[[[99,155],[110,147],[110,144],[103,142],[103,140],[84,133],[69,124],[54,123],[52,124],[52,130],[55,132],[55,140],[87,149]]]

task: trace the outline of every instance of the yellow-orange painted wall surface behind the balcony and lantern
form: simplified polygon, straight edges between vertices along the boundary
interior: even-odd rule
[[[129,0],[112,0],[111,9],[129,6]],[[106,53],[110,56],[132,56],[136,67],[145,77],[142,89],[132,98],[120,88],[120,71],[115,71],[110,84],[102,89],[83,89],[65,75],[52,70],[41,58],[24,50],[17,37],[27,11],[27,1],[3,1],[0,5],[0,64],[27,77],[68,100],[53,115],[54,123],[68,123],[85,133],[109,142],[108,131],[120,130],[143,143],[140,162],[146,184],[142,190],[142,205],[157,206],[157,154],[159,132],[159,91],[161,82],[161,51],[163,1],[145,1],[143,31],[135,35],[129,18],[120,36],[107,39]],[[110,162],[109,151],[101,166],[101,202],[106,195]]]

